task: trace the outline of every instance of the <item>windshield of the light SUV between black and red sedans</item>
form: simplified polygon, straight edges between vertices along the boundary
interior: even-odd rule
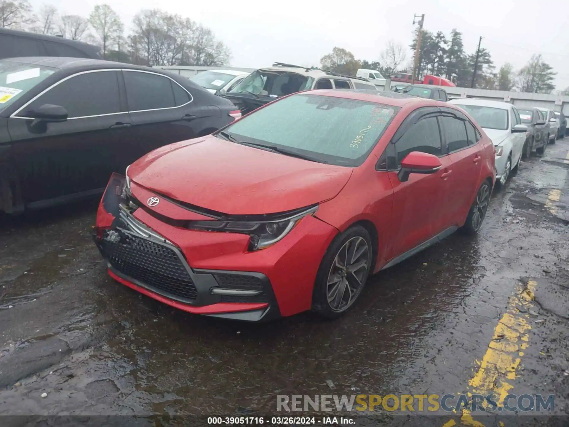
[[[229,93],[251,92],[276,98],[310,89],[313,82],[312,77],[298,73],[258,69],[241,80]]]

